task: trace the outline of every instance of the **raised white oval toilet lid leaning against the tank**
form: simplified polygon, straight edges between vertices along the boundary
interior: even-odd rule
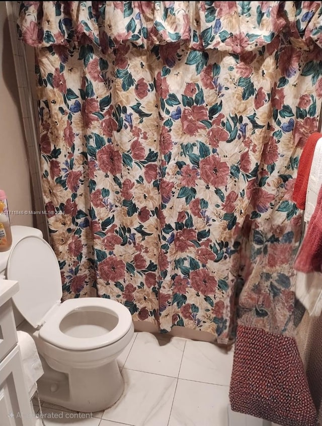
[[[7,278],[19,281],[19,292],[13,301],[34,328],[60,303],[62,287],[57,258],[50,245],[38,236],[22,238],[11,250]]]

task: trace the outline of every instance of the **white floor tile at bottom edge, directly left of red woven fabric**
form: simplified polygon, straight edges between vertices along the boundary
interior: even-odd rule
[[[228,389],[179,379],[169,426],[228,426]]]

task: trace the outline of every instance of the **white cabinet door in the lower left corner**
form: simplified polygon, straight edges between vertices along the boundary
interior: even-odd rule
[[[35,426],[18,346],[0,363],[1,426]]]

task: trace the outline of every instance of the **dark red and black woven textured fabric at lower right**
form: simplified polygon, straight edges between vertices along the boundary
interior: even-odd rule
[[[291,337],[239,326],[229,399],[233,411],[281,426],[316,425],[316,409]]]

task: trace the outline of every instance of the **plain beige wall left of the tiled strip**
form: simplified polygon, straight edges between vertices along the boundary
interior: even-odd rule
[[[0,189],[9,210],[34,210],[6,2],[0,2]],[[32,215],[11,215],[12,225],[33,225]]]

